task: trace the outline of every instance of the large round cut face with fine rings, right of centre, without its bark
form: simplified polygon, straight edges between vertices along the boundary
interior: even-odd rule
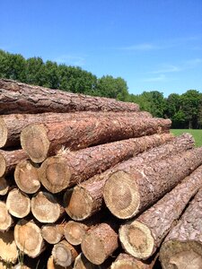
[[[141,175],[137,174],[137,177]],[[133,217],[139,206],[139,194],[134,178],[124,171],[113,173],[104,187],[104,201],[110,212],[119,219]]]

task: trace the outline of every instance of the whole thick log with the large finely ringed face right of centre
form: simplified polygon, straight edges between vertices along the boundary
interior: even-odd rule
[[[171,191],[201,164],[202,147],[171,155],[162,161],[143,163],[139,167],[125,165],[110,175],[105,183],[105,204],[119,219],[134,217]]]

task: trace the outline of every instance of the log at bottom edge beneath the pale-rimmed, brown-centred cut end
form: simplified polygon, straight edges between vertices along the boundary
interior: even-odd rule
[[[157,255],[148,261],[137,260],[134,256],[125,253],[119,254],[116,261],[110,266],[110,269],[153,269]]]

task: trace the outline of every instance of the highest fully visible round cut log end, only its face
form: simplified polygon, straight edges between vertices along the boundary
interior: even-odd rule
[[[46,128],[37,124],[26,126],[21,133],[21,144],[31,161],[36,163],[44,161],[49,149]]]

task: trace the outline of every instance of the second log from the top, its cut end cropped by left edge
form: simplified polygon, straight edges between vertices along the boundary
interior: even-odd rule
[[[27,113],[27,112],[26,112]],[[22,129],[31,124],[63,122],[84,117],[152,117],[146,111],[142,112],[75,112],[75,113],[42,113],[42,114],[9,114],[0,116],[0,148],[20,145]]]

